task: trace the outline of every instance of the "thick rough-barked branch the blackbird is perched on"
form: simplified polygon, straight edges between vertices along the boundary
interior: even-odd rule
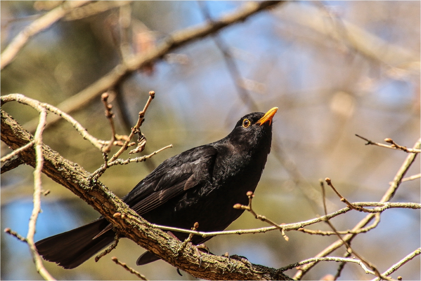
[[[10,115],[1,111],[1,140],[12,149],[21,147],[33,139]],[[55,182],[71,190],[99,211],[122,235],[136,242],[171,265],[197,278],[209,280],[289,280],[274,268],[254,265],[246,260],[234,260],[201,253],[195,246],[186,247],[183,254],[178,251],[183,242],[173,239],[168,233],[153,228],[139,217],[101,182],[89,181],[89,174],[76,163],[61,157],[47,145],[43,145],[43,173]],[[22,160],[35,167],[35,150],[28,148],[20,153]],[[115,213],[123,216],[113,216]],[[201,265],[200,259],[201,258]],[[199,267],[200,265],[200,267]]]

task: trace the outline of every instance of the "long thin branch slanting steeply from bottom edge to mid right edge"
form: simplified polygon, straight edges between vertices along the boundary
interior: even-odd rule
[[[415,145],[413,146],[413,149],[420,149],[420,139],[418,139],[418,141],[415,143]],[[405,176],[406,172],[408,171],[409,167],[411,166],[411,164],[413,163],[413,161],[416,158],[417,153],[410,153],[408,154],[408,156],[406,157],[405,161],[402,163],[402,166],[400,167],[400,169],[397,171],[397,174],[395,175],[393,181],[391,182],[389,189],[386,191],[386,193],[383,195],[383,197],[381,198],[381,203],[385,203],[387,201],[389,201],[394,193],[396,192],[397,188],[400,185],[400,182],[402,180],[402,178]],[[362,219],[357,225],[354,226],[354,228],[352,229],[353,231],[355,230],[359,230],[360,228],[364,227],[365,225],[367,225],[375,216],[375,214],[368,214],[364,219]],[[350,242],[356,234],[347,234],[346,236],[343,237],[344,241]],[[320,252],[319,254],[316,255],[316,257],[324,257],[328,254],[330,254],[331,252],[333,252],[334,250],[338,249],[340,246],[342,245],[342,241],[338,240],[336,242],[334,242],[333,244],[331,244],[330,246],[328,246],[327,248],[325,248],[322,252]],[[294,279],[296,280],[300,280],[301,277],[310,269],[312,268],[316,263],[310,263],[307,265],[303,265],[298,271],[297,273],[294,275]]]

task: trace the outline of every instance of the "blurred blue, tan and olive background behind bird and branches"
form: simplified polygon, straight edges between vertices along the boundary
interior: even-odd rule
[[[62,1],[1,1],[1,48],[38,15]],[[118,1],[116,1],[118,2]],[[95,2],[93,2],[95,3]],[[82,19],[72,14],[29,40],[1,72],[1,95],[21,93],[59,104],[101,78],[122,56],[144,52],[168,34],[210,17],[240,8],[243,1],[134,1]],[[105,5],[112,5],[103,1]],[[223,51],[227,55],[223,55]],[[123,55],[122,55],[123,54]],[[100,178],[117,195],[125,195],[161,161],[228,134],[237,120],[252,111],[277,106],[273,149],[256,190],[254,208],[278,223],[298,222],[323,214],[320,178],[330,177],[349,201],[379,201],[406,157],[402,151],[365,146],[392,138],[412,147],[420,136],[420,1],[292,1],[263,11],[245,22],[181,46],[163,59],[130,75],[112,94],[117,134],[128,134],[137,112],[156,97],[142,132],[144,153],[174,147],[146,163],[114,166]],[[237,69],[238,73],[235,71]],[[241,95],[250,98],[245,102]],[[253,107],[253,101],[256,105]],[[118,106],[120,104],[120,106]],[[256,109],[255,109],[256,108]],[[8,103],[3,110],[21,124],[37,117],[30,107]],[[109,139],[109,124],[99,98],[74,116],[88,131]],[[48,128],[44,142],[88,171],[102,163],[101,153],[63,121]],[[114,151],[114,150],[113,150]],[[2,146],[2,155],[10,152]],[[123,154],[125,158],[127,153]],[[407,176],[418,174],[420,161]],[[1,229],[27,233],[32,211],[29,166],[2,174]],[[35,240],[98,217],[81,199],[43,177],[43,212]],[[328,211],[344,206],[328,190]],[[395,202],[420,201],[420,180],[404,182]],[[365,214],[352,211],[333,219],[338,230],[352,228]],[[266,226],[245,212],[229,229]],[[313,229],[328,230],[326,225]],[[250,262],[279,268],[313,257],[335,237],[278,231],[218,236],[208,241],[214,254],[238,254]],[[355,251],[383,272],[420,246],[420,211],[387,210],[369,233],[352,242]],[[331,255],[342,256],[345,249]],[[128,239],[98,263],[93,258],[73,270],[45,262],[61,280],[136,280],[111,261],[117,256],[150,280],[194,280],[163,261],[137,267],[144,249]],[[318,264],[304,280],[336,273],[337,263]],[[295,270],[287,273],[292,276]],[[419,280],[420,257],[392,277]],[[339,280],[373,276],[347,264]],[[1,279],[39,280],[27,245],[1,233]]]

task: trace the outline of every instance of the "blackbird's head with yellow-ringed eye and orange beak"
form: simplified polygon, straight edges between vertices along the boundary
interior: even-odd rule
[[[266,113],[252,112],[244,115],[226,138],[234,146],[265,150],[269,153],[272,143],[272,118],[277,110],[277,107],[273,107]]]

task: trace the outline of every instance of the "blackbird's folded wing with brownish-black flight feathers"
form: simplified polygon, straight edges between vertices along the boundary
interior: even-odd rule
[[[211,182],[217,153],[215,147],[202,145],[168,158],[121,199],[145,214],[189,188]],[[95,238],[111,228],[108,225]]]

